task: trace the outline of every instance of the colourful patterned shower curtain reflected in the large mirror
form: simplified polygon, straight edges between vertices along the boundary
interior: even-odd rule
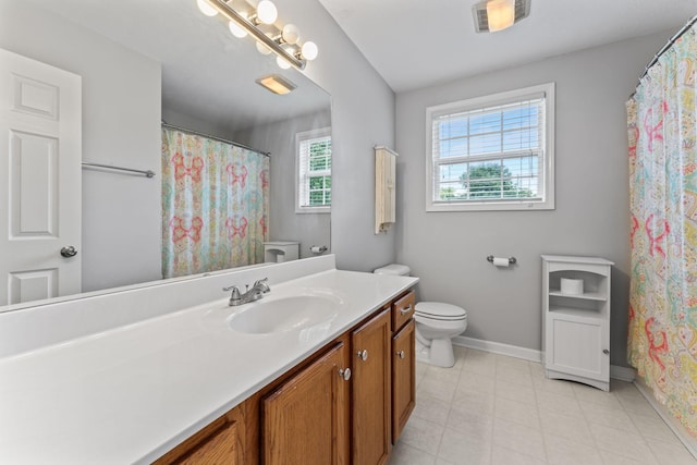
[[[264,261],[269,157],[162,127],[162,276]]]

